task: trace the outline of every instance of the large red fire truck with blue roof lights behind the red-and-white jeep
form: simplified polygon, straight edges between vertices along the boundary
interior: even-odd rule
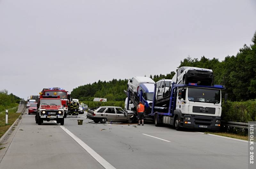
[[[64,109],[64,118],[67,117],[68,113],[68,102],[70,101],[70,94],[68,91],[63,88],[54,87],[54,88],[43,88],[43,90],[39,93],[40,95],[45,96],[60,96],[61,104]]]

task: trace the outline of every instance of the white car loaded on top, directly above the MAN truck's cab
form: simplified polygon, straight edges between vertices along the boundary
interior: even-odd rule
[[[213,84],[213,73],[211,69],[180,67],[172,77],[172,82],[177,84],[199,83],[199,85],[211,86]]]

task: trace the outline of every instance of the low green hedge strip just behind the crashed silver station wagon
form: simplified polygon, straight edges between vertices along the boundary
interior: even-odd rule
[[[89,108],[100,106],[117,106],[124,108],[124,101],[109,101],[109,102],[93,102],[93,101],[80,101],[80,103],[87,104]]]

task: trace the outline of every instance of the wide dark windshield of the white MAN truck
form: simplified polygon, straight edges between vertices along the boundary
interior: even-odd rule
[[[220,90],[188,88],[188,100],[192,102],[220,103]]]

